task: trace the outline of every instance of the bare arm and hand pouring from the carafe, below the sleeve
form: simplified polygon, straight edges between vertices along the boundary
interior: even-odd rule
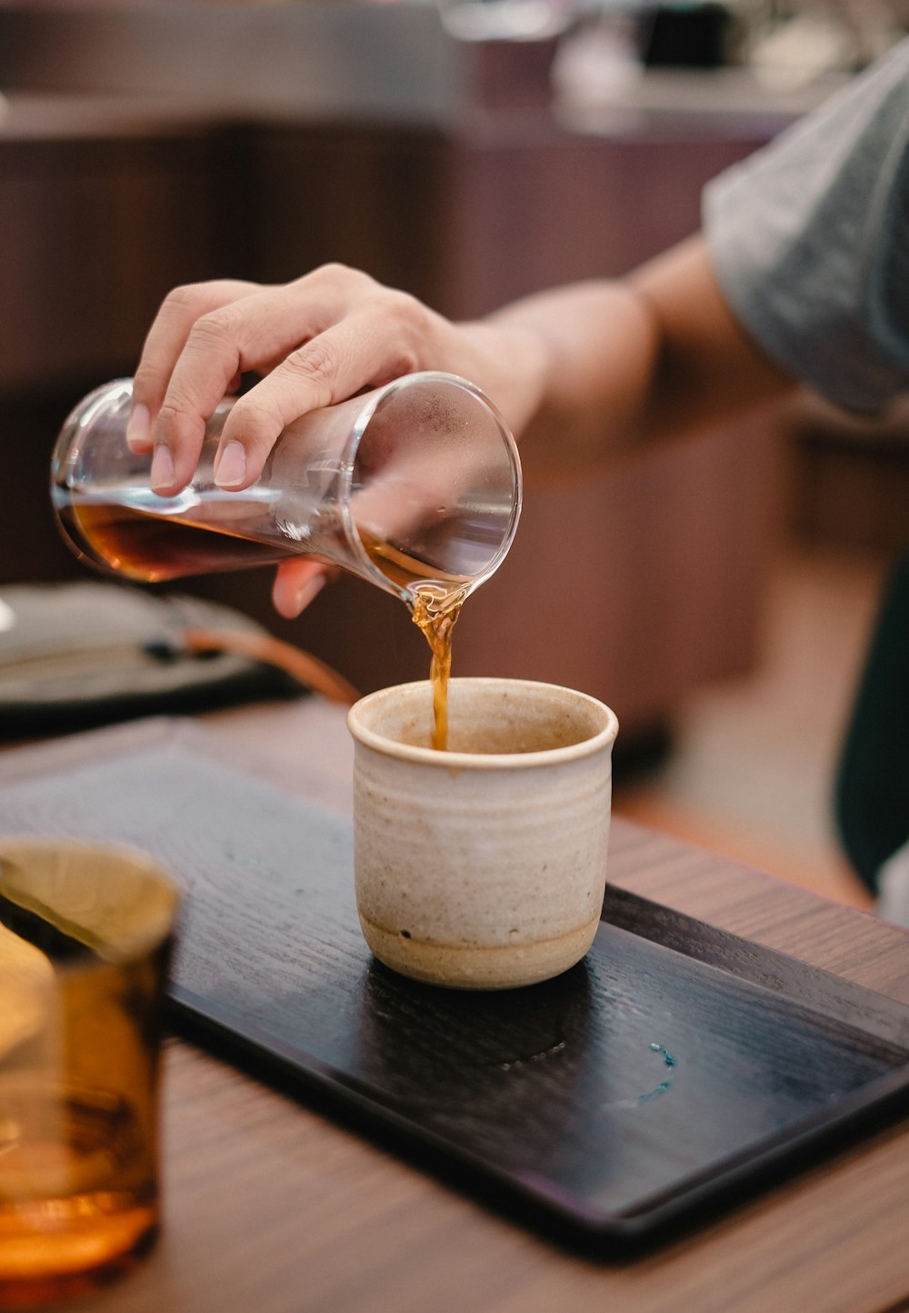
[[[172,293],[136,370],[130,441],[153,444],[152,486],[177,491],[206,418],[240,373],[258,370],[265,377],[233,407],[216,462],[218,481],[243,488],[299,415],[417,369],[483,387],[531,477],[582,471],[792,386],[733,319],[699,238],[626,280],[539,293],[467,324],[329,265],[279,288]],[[283,566],[278,609],[295,614],[321,582],[312,562]]]

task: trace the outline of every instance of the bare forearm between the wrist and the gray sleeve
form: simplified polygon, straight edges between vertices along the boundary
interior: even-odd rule
[[[530,474],[590,467],[794,387],[731,314],[699,238],[624,280],[527,297],[487,324],[512,337],[501,397]]]

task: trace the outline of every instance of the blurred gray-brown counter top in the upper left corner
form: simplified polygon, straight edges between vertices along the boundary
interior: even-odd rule
[[[178,117],[425,121],[466,89],[451,47],[424,5],[7,5],[0,91],[157,97]]]

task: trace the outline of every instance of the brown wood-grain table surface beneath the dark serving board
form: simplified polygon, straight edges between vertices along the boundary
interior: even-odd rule
[[[342,714],[207,717],[286,788],[344,810]],[[909,936],[615,822],[614,884],[909,1003]],[[643,1258],[550,1245],[192,1045],[165,1062],[165,1225],[84,1313],[871,1313],[909,1300],[909,1124]]]

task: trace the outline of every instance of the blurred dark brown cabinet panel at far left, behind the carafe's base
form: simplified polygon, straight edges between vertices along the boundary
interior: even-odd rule
[[[47,500],[56,431],[88,389],[131,373],[161,297],[228,253],[222,142],[0,133],[0,582],[80,567]]]

